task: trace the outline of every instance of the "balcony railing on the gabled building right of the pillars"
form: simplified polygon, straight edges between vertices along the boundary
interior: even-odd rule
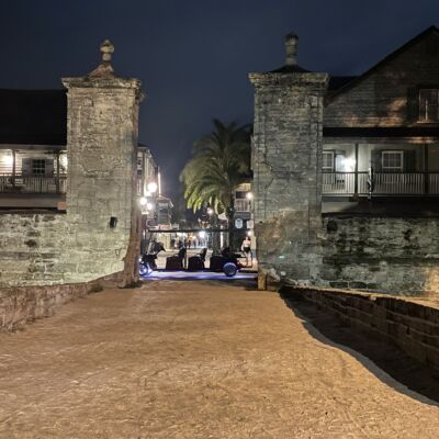
[[[439,172],[324,172],[324,195],[439,195]]]

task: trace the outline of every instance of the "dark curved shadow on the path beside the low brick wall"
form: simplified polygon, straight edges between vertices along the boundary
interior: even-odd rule
[[[439,371],[414,360],[379,336],[341,323],[313,304],[281,294],[317,340],[348,352],[386,385],[421,403],[439,406]]]

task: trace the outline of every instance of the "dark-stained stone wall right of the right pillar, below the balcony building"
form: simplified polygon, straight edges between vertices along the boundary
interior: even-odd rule
[[[439,292],[439,218],[326,215],[322,285]]]

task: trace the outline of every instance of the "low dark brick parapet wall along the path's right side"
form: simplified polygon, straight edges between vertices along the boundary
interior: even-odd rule
[[[319,291],[281,290],[283,296],[304,299],[349,325],[396,344],[408,356],[439,369],[439,309],[398,297]]]

